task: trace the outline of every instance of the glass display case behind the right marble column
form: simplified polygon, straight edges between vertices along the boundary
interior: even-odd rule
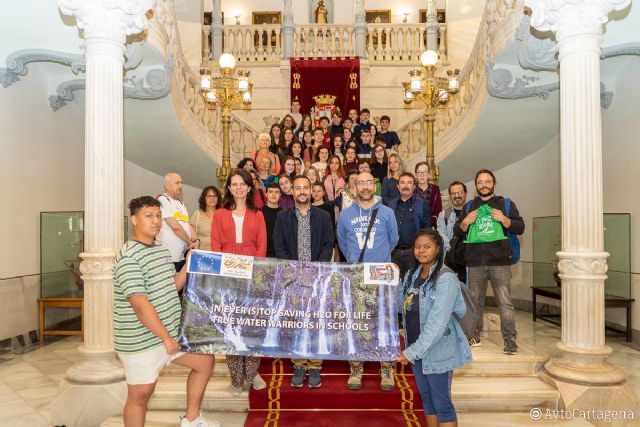
[[[557,276],[561,249],[560,217],[533,218],[533,284],[560,285]],[[604,214],[604,250],[607,258],[605,293],[622,298],[631,297],[631,217],[628,213]]]

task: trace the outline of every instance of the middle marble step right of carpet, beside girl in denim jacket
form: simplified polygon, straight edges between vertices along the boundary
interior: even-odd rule
[[[556,409],[560,393],[536,377],[458,377],[451,395],[459,411],[528,412]]]

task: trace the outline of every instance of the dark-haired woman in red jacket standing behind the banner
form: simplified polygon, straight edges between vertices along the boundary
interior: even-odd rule
[[[254,203],[254,186],[249,172],[234,169],[225,185],[222,209],[213,215],[211,250],[236,255],[267,255],[267,229],[262,212]],[[231,373],[230,391],[239,395],[242,388],[253,385],[261,390],[267,385],[258,375],[259,357],[227,355]]]

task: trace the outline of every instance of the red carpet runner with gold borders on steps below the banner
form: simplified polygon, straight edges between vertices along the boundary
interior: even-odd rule
[[[245,427],[366,427],[424,425],[420,395],[411,368],[399,366],[396,389],[380,390],[380,364],[365,363],[361,390],[347,389],[349,365],[325,361],[322,386],[291,387],[293,367],[289,359],[263,358],[260,374],[267,388],[249,392],[249,416]]]

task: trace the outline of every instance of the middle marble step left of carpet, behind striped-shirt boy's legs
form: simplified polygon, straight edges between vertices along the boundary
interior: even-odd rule
[[[225,377],[212,377],[202,399],[206,411],[246,411],[249,409],[249,394],[243,391],[234,396],[228,391],[230,381]],[[149,401],[149,410],[176,411],[187,406],[187,383],[183,376],[161,376],[156,391]]]

